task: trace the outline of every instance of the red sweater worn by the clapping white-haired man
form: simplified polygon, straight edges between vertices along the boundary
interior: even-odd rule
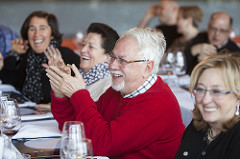
[[[65,121],[82,121],[95,155],[121,159],[173,159],[184,132],[176,97],[161,78],[134,98],[109,88],[95,104],[87,90],[69,98],[52,93],[52,113],[61,129]]]

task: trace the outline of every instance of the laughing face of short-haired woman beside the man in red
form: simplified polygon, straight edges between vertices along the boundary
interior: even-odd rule
[[[80,68],[87,73],[93,66],[107,62],[107,55],[102,48],[102,36],[97,33],[88,33],[83,39]]]

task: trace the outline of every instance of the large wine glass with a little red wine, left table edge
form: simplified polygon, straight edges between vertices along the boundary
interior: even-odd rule
[[[21,125],[20,111],[16,99],[7,98],[1,101],[0,120],[2,132],[8,136],[10,145],[12,137],[18,132]],[[11,146],[9,146],[11,149]]]

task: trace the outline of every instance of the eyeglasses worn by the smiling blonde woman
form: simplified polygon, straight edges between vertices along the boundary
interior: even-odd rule
[[[199,89],[198,91],[200,91],[199,93],[201,93],[201,97],[197,97],[197,90],[196,89]],[[215,92],[214,92],[215,91]],[[212,98],[215,98],[216,99],[216,96],[220,96],[220,95],[228,95],[228,94],[233,94],[234,91],[231,90],[231,91],[224,91],[224,90],[218,90],[218,89],[210,89],[210,90],[207,90],[207,89],[203,89],[203,88],[199,88],[199,87],[194,87],[193,89],[193,94],[196,98],[203,98],[203,96],[206,95],[206,93],[209,92],[209,95],[212,97]]]

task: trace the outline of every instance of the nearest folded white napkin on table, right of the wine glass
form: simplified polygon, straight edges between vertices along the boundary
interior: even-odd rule
[[[18,131],[18,133],[13,136],[13,139],[51,137],[51,136],[61,136],[61,132],[58,130],[57,127],[40,125],[23,125]]]

